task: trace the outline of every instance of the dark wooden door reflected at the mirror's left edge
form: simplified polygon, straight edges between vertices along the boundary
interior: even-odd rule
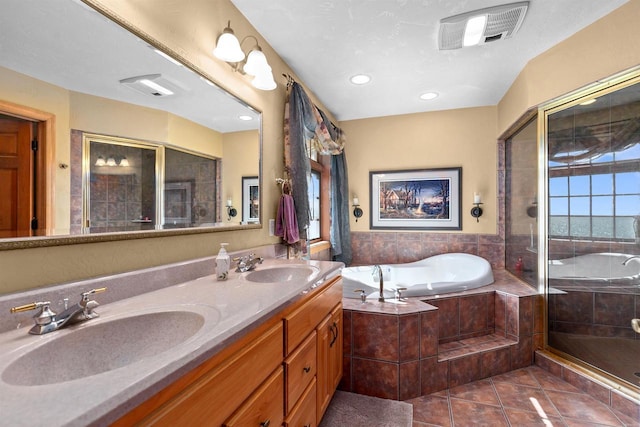
[[[33,126],[0,117],[0,238],[31,236]]]

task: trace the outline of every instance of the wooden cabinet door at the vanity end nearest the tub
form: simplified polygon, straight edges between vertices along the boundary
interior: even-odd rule
[[[318,325],[317,423],[342,378],[342,303]]]

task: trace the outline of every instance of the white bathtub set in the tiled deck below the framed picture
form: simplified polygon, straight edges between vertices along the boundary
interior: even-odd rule
[[[380,265],[383,271],[385,298],[393,298],[396,288],[407,288],[403,296],[417,297],[460,292],[493,283],[489,262],[475,255],[450,253],[435,255],[406,264]],[[359,298],[356,289],[364,289],[378,298],[380,286],[373,266],[342,269],[344,296]]]

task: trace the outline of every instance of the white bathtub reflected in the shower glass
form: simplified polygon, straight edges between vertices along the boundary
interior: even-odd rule
[[[622,263],[632,255],[594,253],[549,261],[549,279],[629,281],[640,278],[640,259]]]

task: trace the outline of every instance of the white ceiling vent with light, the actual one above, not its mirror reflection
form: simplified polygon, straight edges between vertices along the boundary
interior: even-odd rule
[[[441,19],[438,48],[440,50],[449,50],[463,47],[467,21],[470,18],[483,15],[487,17],[487,23],[478,44],[509,38],[522,25],[528,7],[529,2],[523,1],[488,7]]]

